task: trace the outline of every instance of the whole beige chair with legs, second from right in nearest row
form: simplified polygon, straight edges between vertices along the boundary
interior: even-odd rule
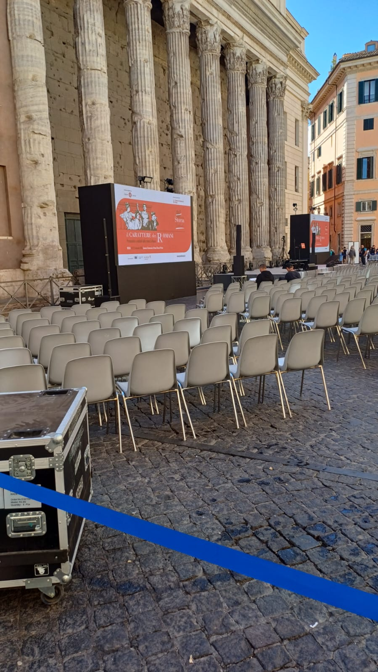
[[[247,339],[243,344],[243,349],[237,364],[232,364],[230,366],[230,373],[233,378],[233,383],[239,380],[247,378],[260,378],[260,387],[258,399],[260,401],[260,392],[261,392],[261,383],[262,383],[262,396],[261,401],[264,401],[264,391],[265,391],[265,376],[270,376],[274,374],[276,378],[276,383],[278,387],[278,392],[280,394],[280,402],[282,407],[282,415],[284,419],[286,418],[284,401],[282,398],[282,391],[285,395],[285,400],[287,403],[287,408],[289,415],[291,417],[291,410],[289,407],[289,402],[287,401],[287,395],[285,392],[285,386],[282,382],[280,375],[280,370],[278,367],[278,356],[277,356],[277,343],[278,336],[276,334],[268,334],[264,336],[255,336],[253,338]],[[236,386],[235,386],[236,390]],[[241,408],[241,415],[243,417],[244,425],[247,426],[245,422],[245,417],[243,409]]]

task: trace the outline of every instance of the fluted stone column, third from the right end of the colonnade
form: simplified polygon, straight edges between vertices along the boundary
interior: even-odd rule
[[[236,225],[241,224],[241,254],[252,259],[248,193],[247,117],[245,115],[245,46],[227,44],[227,112],[229,139],[229,220],[231,254],[235,254]]]

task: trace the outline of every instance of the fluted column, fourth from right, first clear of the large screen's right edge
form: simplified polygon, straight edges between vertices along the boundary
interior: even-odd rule
[[[196,38],[200,56],[206,257],[208,261],[229,261],[225,236],[225,166],[219,67],[221,29],[214,22],[199,21]]]

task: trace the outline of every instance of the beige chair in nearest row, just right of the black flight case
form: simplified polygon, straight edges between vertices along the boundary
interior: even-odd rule
[[[95,332],[93,331],[91,333]],[[122,453],[120,403],[114,382],[112,360],[109,355],[81,357],[79,360],[71,360],[68,362],[65,370],[63,387],[85,387],[87,389],[87,403],[97,405],[100,426],[102,425],[100,403],[114,401],[116,407],[116,424],[118,425],[118,442],[120,444],[120,452]],[[107,433],[109,430],[108,420],[109,414],[106,417]]]

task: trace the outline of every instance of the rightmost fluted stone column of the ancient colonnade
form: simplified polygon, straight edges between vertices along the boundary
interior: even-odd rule
[[[268,81],[268,159],[270,247],[276,259],[285,236],[285,130],[284,106],[287,77],[277,75]],[[288,249],[288,242],[285,244]]]

